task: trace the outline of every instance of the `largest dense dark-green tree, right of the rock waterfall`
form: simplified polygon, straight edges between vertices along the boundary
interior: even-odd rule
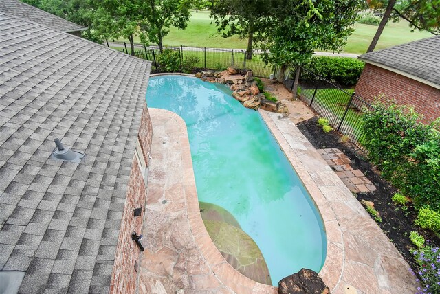
[[[307,63],[316,49],[340,51],[361,5],[361,0],[273,0],[259,41],[263,60],[281,69],[278,81],[288,67]]]

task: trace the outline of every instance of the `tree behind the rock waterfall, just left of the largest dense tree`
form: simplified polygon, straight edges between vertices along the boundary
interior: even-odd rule
[[[221,0],[211,8],[211,16],[223,38],[232,35],[248,38],[246,59],[252,59],[254,34],[263,27],[268,4],[267,0]]]

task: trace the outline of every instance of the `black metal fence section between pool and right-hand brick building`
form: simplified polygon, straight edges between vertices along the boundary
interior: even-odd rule
[[[294,78],[285,80],[285,86],[291,91]],[[327,118],[329,124],[366,152],[362,146],[362,114],[373,109],[371,103],[357,95],[353,89],[343,89],[340,85],[325,80],[313,72],[301,67],[297,96],[320,116]]]

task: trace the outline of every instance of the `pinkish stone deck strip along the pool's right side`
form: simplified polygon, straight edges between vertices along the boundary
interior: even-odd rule
[[[404,258],[303,133],[285,115],[259,112],[324,221],[327,258],[319,275],[331,293],[416,293]]]

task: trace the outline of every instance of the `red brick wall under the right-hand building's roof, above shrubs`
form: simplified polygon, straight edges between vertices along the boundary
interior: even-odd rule
[[[412,105],[424,115],[426,123],[440,117],[439,89],[369,63],[362,71],[355,92],[367,101],[383,94],[397,104]]]

